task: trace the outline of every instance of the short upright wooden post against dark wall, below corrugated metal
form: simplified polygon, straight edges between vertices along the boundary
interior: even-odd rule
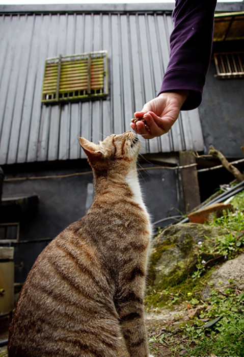
[[[180,166],[196,164],[196,158],[192,151],[179,152]],[[185,213],[192,211],[201,203],[197,166],[192,165],[181,170],[182,189],[184,197]]]

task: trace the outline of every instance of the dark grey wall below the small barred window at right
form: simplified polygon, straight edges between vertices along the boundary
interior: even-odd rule
[[[212,61],[199,107],[205,154],[212,144],[225,156],[242,157],[244,79],[217,79],[215,73]]]

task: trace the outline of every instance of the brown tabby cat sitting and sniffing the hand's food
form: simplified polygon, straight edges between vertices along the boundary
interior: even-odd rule
[[[151,227],[136,169],[140,141],[126,132],[79,143],[93,169],[94,202],[31,269],[9,357],[113,357],[123,338],[131,357],[149,355],[143,298]]]

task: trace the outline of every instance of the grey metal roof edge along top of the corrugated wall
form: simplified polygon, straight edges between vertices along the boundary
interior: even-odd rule
[[[172,12],[173,9],[174,3],[0,5],[0,13]]]

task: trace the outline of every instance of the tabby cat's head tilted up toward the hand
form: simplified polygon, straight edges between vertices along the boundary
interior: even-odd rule
[[[140,150],[140,140],[132,132],[112,134],[98,144],[79,138],[79,143],[87,155],[89,164],[96,171],[115,169],[118,165],[129,169],[129,166],[135,165]]]

